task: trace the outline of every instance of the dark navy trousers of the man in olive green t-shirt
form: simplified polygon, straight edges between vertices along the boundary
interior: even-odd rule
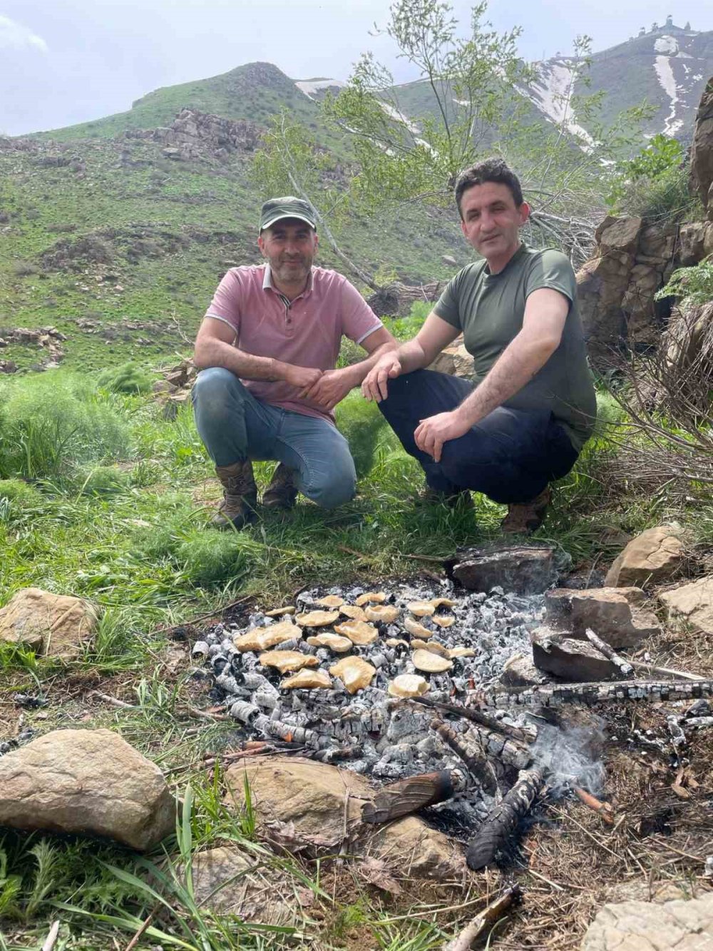
[[[416,446],[414,431],[421,419],[455,409],[472,393],[472,384],[434,370],[414,370],[390,379],[388,393],[379,409],[437,492],[470,489],[495,502],[529,502],[550,479],[566,476],[577,458],[549,410],[500,406],[465,436],[444,443],[440,462],[434,462]]]

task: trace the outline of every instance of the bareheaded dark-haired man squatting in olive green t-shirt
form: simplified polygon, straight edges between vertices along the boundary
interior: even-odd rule
[[[530,206],[501,160],[463,172],[455,201],[483,260],[456,274],[414,340],[379,359],[361,389],[431,495],[453,504],[483,492],[508,503],[504,531],[532,531],[549,481],[569,472],[596,418],[574,272],[561,252],[520,242]],[[460,333],[472,383],[423,369]]]

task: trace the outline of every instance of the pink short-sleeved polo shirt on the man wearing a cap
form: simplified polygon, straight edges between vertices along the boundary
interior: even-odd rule
[[[229,323],[238,335],[235,345],[245,353],[320,370],[335,368],[342,335],[361,343],[382,326],[357,288],[323,267],[312,268],[307,288],[294,301],[273,287],[269,264],[231,267],[205,316]],[[284,380],[242,382],[272,406],[334,422],[334,413],[300,399],[298,387]]]

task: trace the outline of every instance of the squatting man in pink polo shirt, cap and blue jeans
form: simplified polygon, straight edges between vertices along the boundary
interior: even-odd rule
[[[291,196],[262,205],[258,245],[266,263],[232,267],[196,338],[196,424],[216,464],[223,500],[213,524],[257,517],[252,459],[277,459],[262,496],[289,509],[298,492],[324,508],[354,496],[357,476],[334,408],[397,343],[336,271],[314,267],[312,207]],[[336,370],[342,336],[368,358]]]

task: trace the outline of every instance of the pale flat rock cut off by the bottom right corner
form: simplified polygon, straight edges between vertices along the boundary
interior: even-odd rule
[[[655,904],[606,904],[588,927],[582,951],[709,951],[713,893]]]

